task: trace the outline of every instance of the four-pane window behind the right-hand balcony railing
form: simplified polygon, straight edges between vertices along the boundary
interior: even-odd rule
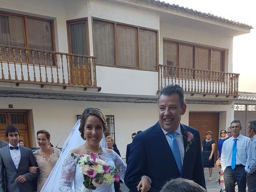
[[[224,71],[224,50],[164,41],[163,53],[164,65],[172,62],[173,66]]]

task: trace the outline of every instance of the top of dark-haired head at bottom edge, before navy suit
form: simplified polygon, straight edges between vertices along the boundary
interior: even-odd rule
[[[206,190],[192,180],[177,178],[168,181],[160,192],[206,192]]]

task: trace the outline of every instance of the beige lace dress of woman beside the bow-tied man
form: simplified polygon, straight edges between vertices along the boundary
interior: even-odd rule
[[[38,150],[34,152],[34,156],[36,158],[36,162],[38,164],[38,168],[40,171],[40,174],[38,176],[38,181],[37,181],[37,191],[39,192],[44,186],[44,183],[46,182],[48,176],[50,175],[54,165],[58,161],[60,157],[60,150],[57,148],[53,148],[53,154],[50,155],[50,158],[48,161],[39,155]]]

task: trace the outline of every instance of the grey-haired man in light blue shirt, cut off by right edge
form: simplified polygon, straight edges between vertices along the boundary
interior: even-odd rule
[[[246,162],[246,182],[249,192],[256,192],[256,120],[249,122],[247,127],[248,136],[251,138],[250,154]]]

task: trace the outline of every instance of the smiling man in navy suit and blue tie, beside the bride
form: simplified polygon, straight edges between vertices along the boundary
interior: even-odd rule
[[[132,192],[138,191],[137,187],[142,192],[159,192],[168,180],[180,177],[206,188],[200,134],[180,124],[185,112],[184,90],[179,85],[168,85],[160,90],[159,121],[132,142],[124,178]],[[148,180],[149,188],[145,185]]]

